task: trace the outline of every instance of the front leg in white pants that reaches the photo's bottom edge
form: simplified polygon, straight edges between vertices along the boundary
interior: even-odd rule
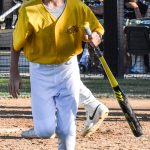
[[[76,141],[76,113],[79,102],[79,68],[77,60],[71,60],[72,64],[64,65],[66,71],[61,74],[63,80],[59,84],[60,90],[55,97],[57,107],[56,134],[59,138],[60,150],[74,150]]]

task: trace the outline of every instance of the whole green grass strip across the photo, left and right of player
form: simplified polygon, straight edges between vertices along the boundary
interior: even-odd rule
[[[22,78],[22,96],[30,95],[30,82],[28,78]],[[83,83],[96,97],[114,96],[113,90],[107,79],[82,78]],[[146,79],[117,79],[121,89],[128,96],[150,97],[150,80]],[[9,96],[8,78],[0,78],[0,96]]]

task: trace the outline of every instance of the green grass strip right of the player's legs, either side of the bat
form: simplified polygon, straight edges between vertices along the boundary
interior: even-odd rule
[[[97,97],[113,96],[113,90],[107,79],[82,79],[83,83],[91,89]],[[150,80],[144,79],[117,79],[121,89],[128,96],[150,97]]]

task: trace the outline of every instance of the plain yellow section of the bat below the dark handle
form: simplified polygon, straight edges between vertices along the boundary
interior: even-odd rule
[[[103,69],[104,69],[105,72],[106,72],[106,75],[107,75],[107,77],[108,77],[108,79],[109,79],[109,82],[110,82],[111,86],[112,86],[112,87],[118,86],[118,82],[116,81],[114,75],[112,74],[111,70],[109,69],[109,67],[108,67],[108,65],[107,65],[107,63],[106,63],[104,57],[101,56],[101,57],[99,58],[99,60],[101,61],[101,64],[102,64],[102,66],[103,66]]]

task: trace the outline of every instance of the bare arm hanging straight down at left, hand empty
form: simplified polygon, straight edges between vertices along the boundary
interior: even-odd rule
[[[8,83],[9,93],[14,97],[18,98],[21,88],[21,78],[19,75],[18,62],[19,62],[20,51],[11,49],[11,65],[10,65],[10,79]]]

